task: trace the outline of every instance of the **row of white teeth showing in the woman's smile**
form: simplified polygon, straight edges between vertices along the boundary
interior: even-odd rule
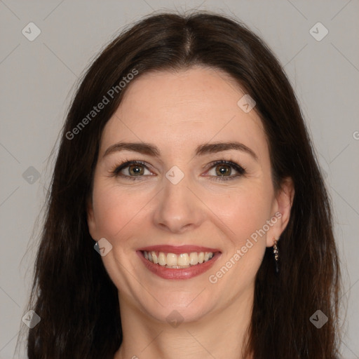
[[[144,250],[144,258],[149,262],[159,264],[160,266],[168,266],[170,268],[188,268],[203,262],[209,261],[213,257],[212,252],[191,252],[175,255],[174,253],[164,252],[147,252]]]

